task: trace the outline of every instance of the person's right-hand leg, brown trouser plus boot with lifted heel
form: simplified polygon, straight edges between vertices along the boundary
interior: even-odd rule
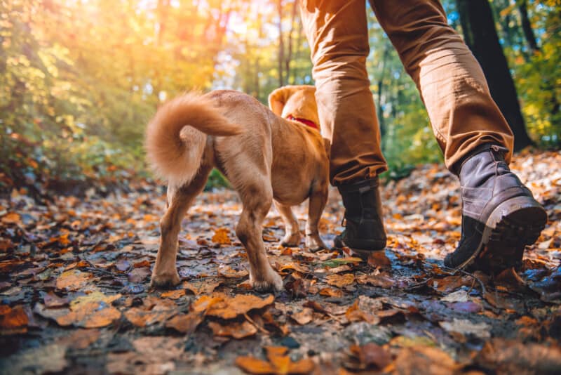
[[[424,100],[446,166],[460,178],[462,234],[450,268],[496,271],[522,260],[546,211],[508,169],[513,133],[480,65],[436,0],[370,0]]]

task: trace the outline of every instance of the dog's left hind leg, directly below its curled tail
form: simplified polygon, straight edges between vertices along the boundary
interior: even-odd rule
[[[180,283],[175,261],[181,222],[195,197],[205,187],[211,169],[210,166],[201,166],[190,183],[181,187],[168,187],[168,211],[160,221],[160,248],[152,271],[152,287],[172,287]]]

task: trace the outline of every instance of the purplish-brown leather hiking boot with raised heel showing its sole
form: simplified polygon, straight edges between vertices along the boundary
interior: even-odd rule
[[[487,273],[517,267],[545,227],[546,210],[508,169],[507,151],[483,145],[461,163],[461,239],[447,267]]]

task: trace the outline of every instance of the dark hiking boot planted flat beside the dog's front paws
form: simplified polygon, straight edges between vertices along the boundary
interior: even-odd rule
[[[386,231],[381,212],[378,178],[338,187],[345,206],[345,230],[334,246],[347,246],[361,258],[386,247]]]

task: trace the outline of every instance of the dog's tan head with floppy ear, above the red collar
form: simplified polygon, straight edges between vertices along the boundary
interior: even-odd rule
[[[305,119],[319,128],[316,87],[309,85],[283,86],[269,95],[269,108],[285,119]]]

